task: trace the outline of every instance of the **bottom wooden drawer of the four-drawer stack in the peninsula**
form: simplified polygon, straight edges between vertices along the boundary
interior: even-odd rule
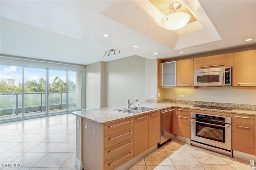
[[[127,162],[128,160],[131,160],[133,158],[133,149],[128,150],[127,152],[124,152],[123,154],[120,154],[116,156],[115,158],[105,162],[105,170],[114,170]]]

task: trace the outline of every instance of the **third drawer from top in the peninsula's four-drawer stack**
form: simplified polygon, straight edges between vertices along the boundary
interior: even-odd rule
[[[105,149],[105,162],[133,148],[133,138]]]

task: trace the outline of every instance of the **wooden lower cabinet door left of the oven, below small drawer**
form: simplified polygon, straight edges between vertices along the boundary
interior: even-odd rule
[[[178,135],[190,138],[190,116],[178,115]]]

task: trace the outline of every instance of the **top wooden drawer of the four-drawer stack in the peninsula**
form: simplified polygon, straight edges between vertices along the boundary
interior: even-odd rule
[[[133,127],[133,119],[124,119],[121,121],[107,123],[106,125],[104,125],[104,127],[105,127],[105,136],[108,136],[110,134],[120,132],[124,129]]]

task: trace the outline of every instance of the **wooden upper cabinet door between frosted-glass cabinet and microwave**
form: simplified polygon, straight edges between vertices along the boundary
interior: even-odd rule
[[[177,61],[177,86],[194,86],[194,60]]]

